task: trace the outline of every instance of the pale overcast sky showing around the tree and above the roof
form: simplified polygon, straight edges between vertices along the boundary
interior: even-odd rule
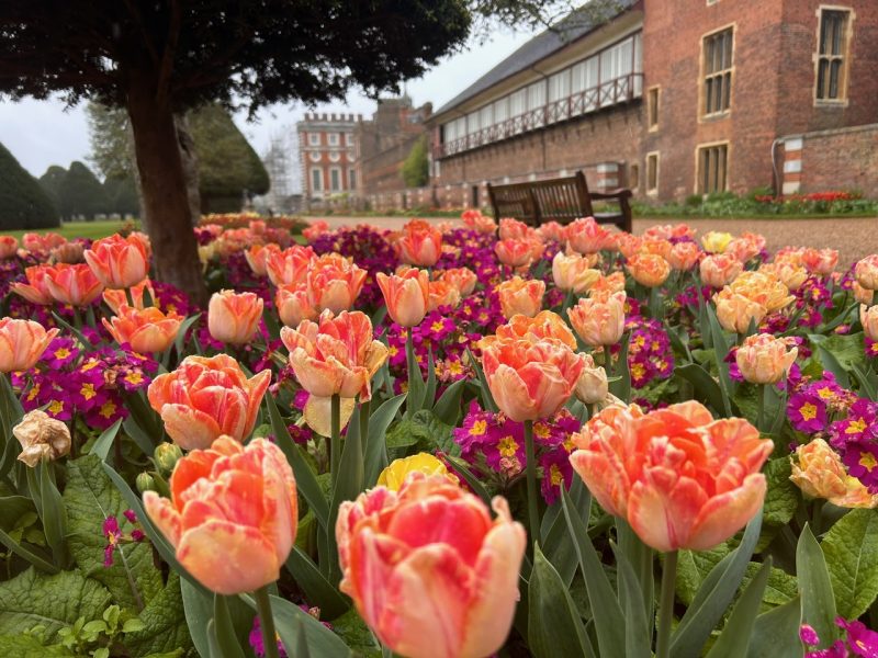
[[[497,32],[480,45],[472,42],[464,52],[451,55],[423,78],[410,80],[406,90],[415,105],[432,102],[434,109],[457,95],[532,36],[529,32]],[[347,103],[316,107],[318,112],[352,112],[370,116],[375,103],[362,93],[351,93]],[[304,105],[274,105],[261,111],[256,123],[244,115],[235,121],[261,155],[271,138],[291,131],[308,111]],[[65,109],[60,101],[24,100],[19,103],[0,101],[0,143],[35,177],[50,164],[70,166],[89,155],[89,131],[85,104]]]

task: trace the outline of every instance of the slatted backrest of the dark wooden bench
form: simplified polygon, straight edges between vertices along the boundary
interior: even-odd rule
[[[526,224],[539,226],[547,222],[567,224],[579,217],[594,215],[582,171],[577,171],[575,175],[544,181],[488,185],[488,194],[496,219],[515,217]]]

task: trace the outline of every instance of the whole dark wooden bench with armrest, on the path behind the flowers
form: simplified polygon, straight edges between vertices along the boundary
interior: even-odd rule
[[[585,175],[530,181],[510,185],[492,185],[487,193],[494,208],[494,218],[514,217],[531,226],[547,222],[570,224],[579,217],[594,217],[599,224],[614,224],[631,232],[631,190],[600,193],[589,192]],[[595,213],[593,201],[611,200],[619,204],[618,213]]]

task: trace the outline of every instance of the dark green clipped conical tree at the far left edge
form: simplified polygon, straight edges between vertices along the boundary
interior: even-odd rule
[[[48,194],[0,144],[0,229],[58,226],[58,211]]]

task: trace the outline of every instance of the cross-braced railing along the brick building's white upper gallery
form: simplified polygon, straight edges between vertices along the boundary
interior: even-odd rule
[[[574,116],[618,105],[643,94],[643,73],[628,73],[607,80],[597,87],[578,91],[564,99],[551,101],[541,107],[529,110],[500,123],[482,128],[470,135],[440,144],[434,148],[435,158],[453,156],[480,146],[508,139],[530,131],[566,121]]]

